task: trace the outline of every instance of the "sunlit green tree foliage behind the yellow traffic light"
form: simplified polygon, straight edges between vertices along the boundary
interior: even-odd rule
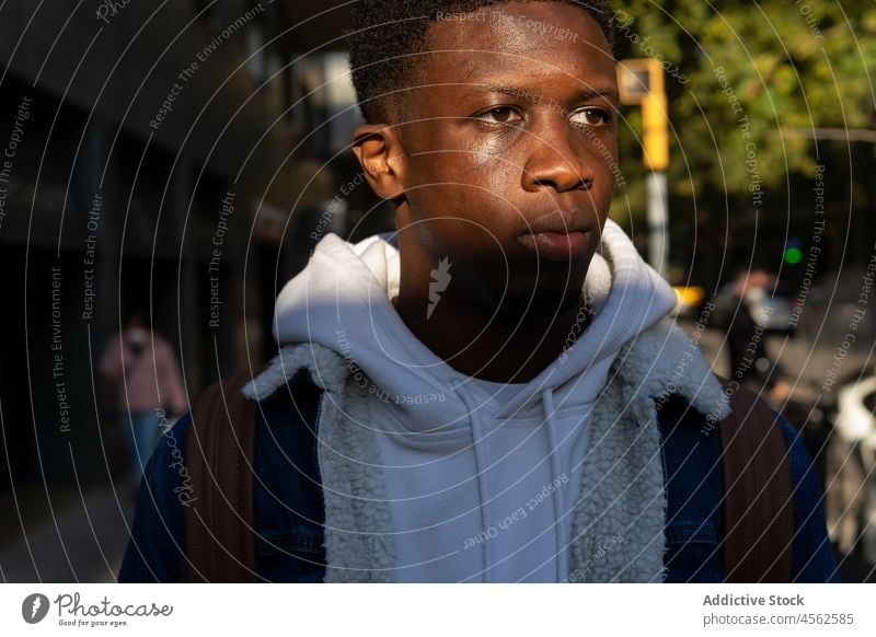
[[[753,222],[768,208],[784,211],[779,221],[788,225],[795,184],[831,158],[850,163],[849,143],[812,138],[876,124],[872,1],[618,0],[614,7],[619,58],[656,57],[667,69],[676,233],[679,217],[688,228],[707,224],[710,216]],[[619,190],[614,215],[637,224],[645,206],[642,124],[637,108],[624,107],[623,116],[629,185]],[[862,146],[872,165],[874,146],[852,144],[858,153]],[[872,182],[829,195],[838,207],[841,200],[871,206]]]

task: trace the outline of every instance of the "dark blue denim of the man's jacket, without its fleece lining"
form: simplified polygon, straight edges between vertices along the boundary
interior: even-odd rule
[[[255,451],[257,578],[269,582],[320,582],[325,574],[323,497],[314,430],[320,390],[306,370],[289,390],[261,401]],[[122,582],[185,582],[184,509],[192,493],[184,459],[191,416],[164,432],[140,487],[131,540],[119,571]],[[658,412],[667,491],[667,582],[725,579],[721,466],[717,429],[680,397]],[[822,495],[802,439],[784,419],[794,493],[792,581],[838,581],[827,538]]]

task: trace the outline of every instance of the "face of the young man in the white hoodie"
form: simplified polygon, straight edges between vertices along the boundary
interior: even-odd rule
[[[427,38],[400,130],[400,230],[489,310],[574,306],[616,173],[604,35],[580,9],[533,2],[445,16]]]

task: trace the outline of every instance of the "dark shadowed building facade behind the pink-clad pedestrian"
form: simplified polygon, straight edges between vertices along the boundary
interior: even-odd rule
[[[322,126],[338,104],[295,63],[325,71],[343,46],[345,14],[309,18],[322,9],[0,9],[0,490],[115,471],[96,362],[131,309],[173,345],[189,396],[269,355],[276,291],[353,165]]]

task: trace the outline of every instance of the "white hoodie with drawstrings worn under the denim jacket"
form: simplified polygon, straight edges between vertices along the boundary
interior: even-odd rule
[[[280,293],[275,322],[280,344],[337,352],[360,387],[390,512],[390,579],[566,580],[591,407],[621,348],[675,293],[609,221],[585,283],[590,325],[538,378],[503,385],[454,371],[410,332],[391,303],[399,278],[387,236],[328,235]]]

